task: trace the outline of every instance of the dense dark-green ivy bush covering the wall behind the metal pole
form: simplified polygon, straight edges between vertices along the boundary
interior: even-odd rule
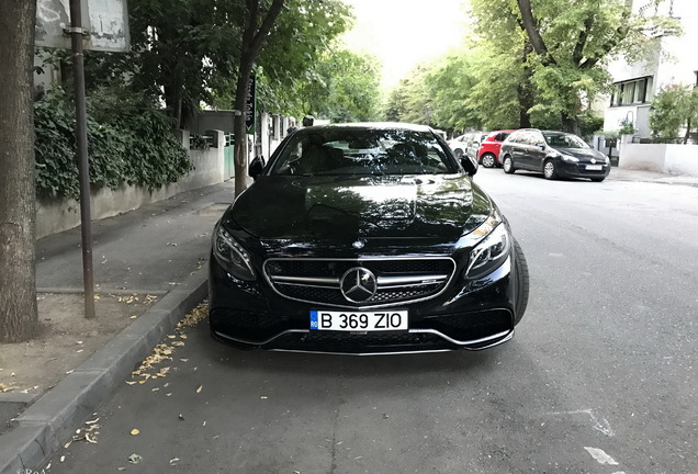
[[[93,189],[122,183],[158,189],[192,169],[172,121],[143,95],[100,90],[88,100],[88,155]],[[98,99],[99,98],[99,99]],[[36,193],[79,196],[75,106],[55,88],[34,103]]]

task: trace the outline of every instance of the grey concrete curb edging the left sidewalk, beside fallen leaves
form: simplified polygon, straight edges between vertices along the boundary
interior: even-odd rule
[[[206,271],[194,272],[15,418],[0,436],[0,474],[38,470],[206,293]]]

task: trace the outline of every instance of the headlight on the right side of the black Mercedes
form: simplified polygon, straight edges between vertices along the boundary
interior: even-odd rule
[[[492,273],[509,256],[511,236],[506,224],[496,216],[485,221],[474,233],[486,234],[471,251],[465,270],[465,278],[477,279]]]

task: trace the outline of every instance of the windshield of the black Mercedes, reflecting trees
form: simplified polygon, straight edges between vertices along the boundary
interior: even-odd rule
[[[296,133],[270,174],[443,174],[455,165],[434,134],[405,129],[325,128]]]

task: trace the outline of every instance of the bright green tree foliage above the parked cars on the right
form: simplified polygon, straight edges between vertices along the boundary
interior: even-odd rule
[[[391,92],[389,116],[443,128],[538,126],[586,134],[590,104],[610,90],[608,63],[646,58],[671,19],[633,14],[627,0],[471,0],[465,47],[414,70]],[[426,82],[425,82],[426,79]],[[415,93],[421,102],[415,101]],[[402,108],[402,109],[401,109]]]

